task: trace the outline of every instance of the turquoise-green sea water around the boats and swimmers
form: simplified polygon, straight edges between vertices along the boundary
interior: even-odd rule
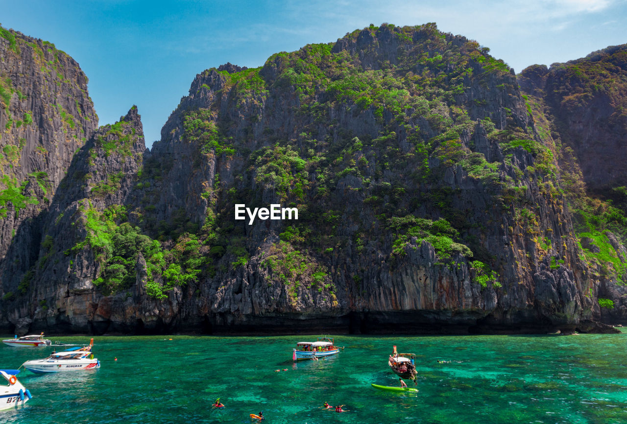
[[[315,336],[94,339],[99,370],[23,371],[33,399],[0,411],[0,422],[250,423],[259,411],[265,423],[627,422],[627,334],[339,335],[339,355],[297,364],[293,345]],[[418,355],[417,395],[371,387],[398,385],[387,368],[393,344]],[[0,346],[0,368],[51,350]],[[212,411],[218,397],[226,408]],[[349,411],[321,410],[324,401]]]

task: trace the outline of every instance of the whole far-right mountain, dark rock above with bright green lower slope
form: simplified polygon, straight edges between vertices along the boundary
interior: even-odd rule
[[[566,194],[582,259],[599,280],[608,322],[627,319],[627,45],[586,58],[530,66],[519,76],[537,127],[559,146]]]

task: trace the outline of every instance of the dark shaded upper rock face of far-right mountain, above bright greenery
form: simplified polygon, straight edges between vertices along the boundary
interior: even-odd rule
[[[531,66],[520,85],[551,109],[554,130],[574,150],[593,192],[627,184],[627,44],[585,58]]]

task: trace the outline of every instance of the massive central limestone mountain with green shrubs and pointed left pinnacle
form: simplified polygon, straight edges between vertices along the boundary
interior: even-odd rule
[[[435,24],[203,71],[150,152],[134,106],[56,162],[48,206],[6,242],[4,328],[609,331],[624,211],[582,231],[577,205],[611,205],[586,192],[547,72]],[[298,219],[235,219],[242,204]]]

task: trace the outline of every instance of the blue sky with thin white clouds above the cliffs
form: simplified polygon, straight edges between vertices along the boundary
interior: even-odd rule
[[[197,73],[335,41],[369,24],[436,22],[520,72],[627,43],[627,0],[3,1],[5,28],[42,38],[87,74],[100,125],[137,105],[146,144]]]

